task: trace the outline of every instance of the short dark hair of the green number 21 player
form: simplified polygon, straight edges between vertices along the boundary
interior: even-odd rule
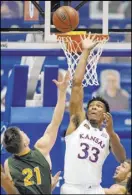
[[[21,150],[21,135],[18,127],[8,127],[4,133],[3,144],[7,152],[18,154]]]

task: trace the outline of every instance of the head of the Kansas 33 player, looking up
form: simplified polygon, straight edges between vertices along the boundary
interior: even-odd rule
[[[90,122],[101,124],[106,112],[110,112],[109,104],[102,97],[93,97],[87,104],[86,117]]]

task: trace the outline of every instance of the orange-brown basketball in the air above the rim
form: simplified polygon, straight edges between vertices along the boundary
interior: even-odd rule
[[[79,13],[70,6],[62,6],[53,13],[53,24],[60,32],[69,32],[79,24]]]

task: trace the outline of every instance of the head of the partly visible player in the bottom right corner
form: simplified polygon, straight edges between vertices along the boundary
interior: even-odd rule
[[[123,163],[120,164],[115,170],[113,178],[117,183],[120,183],[126,180],[131,173],[131,160],[127,159]]]

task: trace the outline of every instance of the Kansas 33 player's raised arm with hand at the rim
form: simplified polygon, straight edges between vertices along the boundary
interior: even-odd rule
[[[73,86],[70,98],[70,116],[79,114],[81,117],[84,115],[82,81],[84,79],[88,56],[95,45],[97,45],[97,41],[95,41],[96,35],[92,38],[90,38],[90,36],[91,33],[88,34],[87,38],[82,39],[83,51],[73,77]]]

